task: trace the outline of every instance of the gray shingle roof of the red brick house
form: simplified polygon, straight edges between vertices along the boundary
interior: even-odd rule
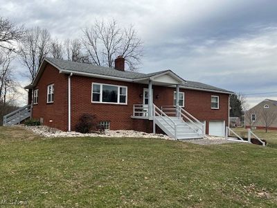
[[[118,71],[115,69],[111,69],[109,67],[99,67],[94,64],[84,64],[79,62],[71,62],[68,60],[58,60],[55,58],[45,58],[48,62],[51,62],[54,66],[57,66],[60,69],[64,69],[67,71],[78,71],[78,72],[84,72],[84,73],[94,73],[98,75],[104,75],[104,76],[112,76],[112,77],[118,77],[118,78],[127,78],[127,79],[139,79],[139,78],[148,78],[154,75],[157,75],[159,73],[163,73],[164,71],[157,71],[154,73],[139,73],[134,71]],[[166,70],[168,71],[168,70]],[[191,87],[191,88],[197,88],[197,89],[208,89],[208,90],[214,90],[218,92],[226,92],[226,93],[232,93],[226,89],[221,89],[218,87],[213,87],[211,85],[206,85],[204,83],[198,83],[193,81],[186,80],[186,84],[182,85],[184,87]]]

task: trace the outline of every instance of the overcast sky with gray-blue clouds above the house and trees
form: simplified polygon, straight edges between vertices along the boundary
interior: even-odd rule
[[[80,37],[95,19],[133,24],[143,40],[140,72],[171,69],[242,94],[277,92],[275,0],[0,0],[0,14],[58,39]],[[24,81],[22,79],[22,81]],[[250,105],[277,93],[247,96]]]

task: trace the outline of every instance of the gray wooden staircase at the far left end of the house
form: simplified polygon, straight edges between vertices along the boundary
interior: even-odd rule
[[[3,125],[15,125],[30,117],[30,105],[21,107],[3,116]]]

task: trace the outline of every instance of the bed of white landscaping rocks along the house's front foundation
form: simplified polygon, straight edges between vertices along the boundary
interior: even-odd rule
[[[49,128],[45,125],[25,126],[27,130],[31,130],[42,137],[134,137],[134,138],[157,138],[172,140],[167,135],[148,134],[145,132],[136,132],[134,130],[105,130],[103,134],[89,133],[82,134],[79,132],[63,132],[55,128]]]

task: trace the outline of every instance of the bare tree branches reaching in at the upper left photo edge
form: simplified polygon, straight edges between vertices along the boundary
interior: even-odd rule
[[[0,17],[0,48],[15,51],[15,43],[24,35],[24,27]]]

